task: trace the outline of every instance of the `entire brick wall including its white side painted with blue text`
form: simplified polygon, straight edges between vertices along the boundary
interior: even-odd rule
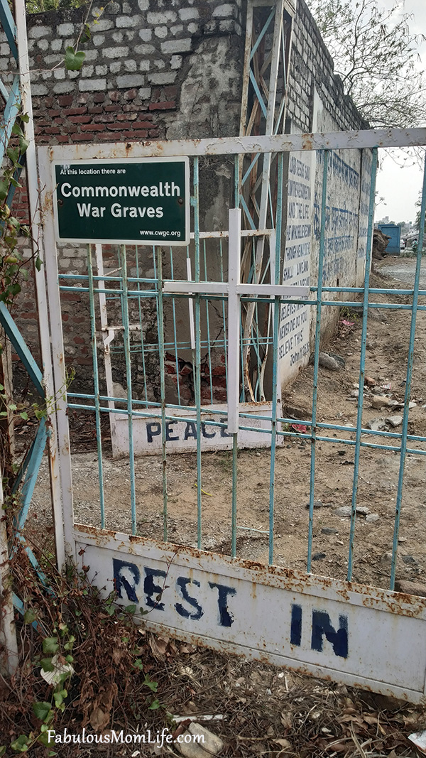
[[[96,13],[96,8],[93,8]],[[245,0],[121,0],[110,2],[92,39],[83,45],[86,61],[80,72],[64,70],[61,60],[67,45],[81,29],[83,9],[49,12],[28,18],[30,65],[33,70],[33,108],[36,140],[39,144],[116,142],[146,139],[176,139],[205,136],[233,136],[239,132],[243,74]],[[0,70],[13,76],[8,45],[0,39]],[[303,0],[298,0],[293,25],[293,51],[287,108],[287,131],[352,130],[365,128],[352,101],[343,95],[340,80],[334,77],[333,61],[319,36]],[[321,197],[321,156],[293,156],[287,176],[287,241],[284,271],[287,281],[314,282],[318,268],[318,202]],[[309,199],[301,199],[298,162],[304,164],[302,183],[309,185]],[[292,167],[296,174],[292,174]],[[204,230],[227,227],[227,208],[233,203],[233,167],[229,161],[200,165],[203,187],[200,224]],[[327,226],[327,253],[324,283],[356,283],[365,256],[365,202],[368,181],[362,179],[359,152],[341,152],[330,167],[327,196],[330,223]],[[292,197],[292,193],[296,193]],[[361,206],[360,206],[361,203]],[[362,217],[359,208],[363,209]],[[17,195],[17,208],[27,215],[25,190]],[[289,215],[290,214],[290,215]],[[293,215],[291,215],[293,214]],[[302,215],[302,218],[299,217]],[[300,224],[299,221],[303,223]],[[364,241],[363,241],[364,240]],[[299,245],[299,249],[295,246]],[[291,249],[290,249],[291,248]],[[132,253],[129,253],[130,256]],[[146,249],[143,275],[153,271],[152,252]],[[66,245],[60,250],[64,273],[86,270],[86,249]],[[107,251],[111,267],[117,253]],[[217,277],[219,261],[212,251],[211,277]],[[134,262],[133,262],[133,271]],[[167,256],[164,257],[166,275]],[[175,271],[175,276],[185,276]],[[309,358],[311,310],[283,313],[281,321],[283,380],[296,374]],[[331,309],[328,309],[331,310]],[[303,316],[303,312],[306,315]],[[297,315],[300,322],[297,323]],[[324,314],[324,328],[335,319]],[[67,360],[77,368],[74,387],[83,387],[91,375],[89,324],[83,293],[65,293],[63,307]],[[144,315],[147,339],[156,338],[155,313]],[[20,303],[20,325],[31,344],[36,342],[36,312],[30,286]],[[301,334],[302,332],[302,334]],[[293,337],[292,344],[285,340]],[[223,368],[223,356],[215,358]],[[142,367],[135,358],[136,377]],[[291,369],[291,370],[290,370]],[[172,368],[170,368],[172,374]],[[152,399],[158,396],[151,367]],[[220,377],[220,378],[219,378]],[[122,381],[119,374],[114,377]],[[173,392],[173,376],[169,377]],[[218,374],[218,400],[224,399],[224,377]],[[137,384],[137,380],[136,380]]]

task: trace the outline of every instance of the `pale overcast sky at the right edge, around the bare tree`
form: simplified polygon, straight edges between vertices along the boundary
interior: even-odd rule
[[[379,0],[386,8],[391,8],[391,0]],[[426,0],[405,0],[401,2],[401,11],[412,14],[413,19],[410,29],[414,33],[426,36]],[[419,48],[421,61],[419,67],[426,69],[426,43]],[[426,127],[426,113],[424,114],[424,126]],[[415,221],[415,202],[421,192],[423,181],[423,168],[418,165],[400,168],[405,156],[399,151],[393,151],[394,158],[385,155],[385,151],[379,151],[381,168],[377,174],[377,205],[376,220],[389,216],[390,221]],[[384,200],[380,201],[380,198]]]

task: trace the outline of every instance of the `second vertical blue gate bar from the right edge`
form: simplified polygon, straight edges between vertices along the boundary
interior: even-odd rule
[[[376,196],[376,174],[377,174],[377,148],[374,148],[372,162],[371,162],[370,200],[369,200],[369,205],[368,205],[367,245],[365,248],[364,296],[362,300],[361,354],[359,358],[359,396],[358,396],[358,410],[356,414],[356,445],[355,445],[355,460],[354,460],[353,481],[352,481],[352,512],[351,512],[351,517],[350,517],[350,531],[349,531],[349,555],[348,555],[348,573],[347,573],[348,581],[351,581],[352,579],[353,547],[354,547],[355,526],[356,526],[356,498],[358,496],[359,454],[361,451],[361,430],[362,430],[362,406],[364,404],[365,349],[366,349],[366,344],[367,344],[368,296],[369,296],[369,287],[370,287],[371,246],[372,246],[373,225],[374,225],[374,199]]]

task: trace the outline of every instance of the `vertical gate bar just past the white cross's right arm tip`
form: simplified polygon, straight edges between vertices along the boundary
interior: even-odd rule
[[[322,171],[322,195],[321,195],[321,236],[318,257],[318,290],[317,290],[317,314],[315,323],[315,356],[314,356],[314,383],[312,388],[312,426],[311,426],[311,470],[309,478],[309,532],[308,532],[308,561],[307,571],[311,571],[312,564],[312,532],[314,528],[314,490],[315,490],[315,453],[316,453],[316,430],[317,421],[317,398],[318,398],[318,361],[319,345],[321,336],[321,300],[322,300],[322,277],[324,271],[324,246],[325,246],[325,208],[327,205],[327,169],[328,150],[324,150],[324,165]]]

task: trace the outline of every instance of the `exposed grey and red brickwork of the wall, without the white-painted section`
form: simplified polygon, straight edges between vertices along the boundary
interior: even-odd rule
[[[37,143],[112,143],[239,133],[246,0],[121,0],[109,2],[96,23],[98,11],[93,8],[92,39],[82,45],[83,68],[67,71],[61,61],[67,45],[74,45],[80,33],[83,12],[80,8],[28,17]],[[12,80],[14,61],[8,57],[1,33],[0,71]],[[292,130],[312,130],[315,93],[327,113],[324,124],[331,124],[333,130],[365,127],[352,101],[343,96],[330,54],[304,0],[299,0],[288,98]],[[211,170],[214,181],[208,183],[202,209],[205,229],[218,228],[212,223],[226,225],[232,189],[230,181],[223,179],[227,173],[232,175],[232,167]],[[24,188],[18,190],[15,208],[27,221]],[[84,246],[67,244],[58,254],[61,272],[86,271]],[[116,255],[111,252],[114,265]],[[145,271],[153,267],[149,255],[147,251]],[[84,293],[65,293],[65,353],[77,368],[77,391],[91,375],[86,305]],[[20,301],[18,322],[37,352],[31,283]],[[146,312],[146,324],[147,333],[155,339],[152,313]],[[140,376],[141,371],[138,366],[136,374]],[[153,399],[156,374],[158,367],[153,364]],[[123,381],[120,372],[114,379]],[[217,384],[223,395],[221,374]]]

